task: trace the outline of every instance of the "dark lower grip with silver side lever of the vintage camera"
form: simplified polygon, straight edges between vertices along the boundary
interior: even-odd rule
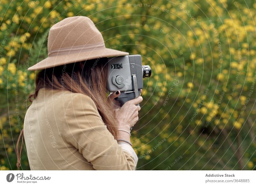
[[[134,91],[121,92],[120,96],[115,98],[115,100],[120,102],[120,107],[122,107],[125,102],[139,97],[140,90],[138,89],[136,75],[132,75],[132,88]],[[138,103],[137,106],[140,106],[140,104]]]

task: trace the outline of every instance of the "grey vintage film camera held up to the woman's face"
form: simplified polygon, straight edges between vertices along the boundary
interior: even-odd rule
[[[121,94],[116,100],[121,107],[126,101],[140,96],[143,78],[150,76],[151,68],[149,65],[142,65],[140,55],[108,58],[108,91],[120,90]]]

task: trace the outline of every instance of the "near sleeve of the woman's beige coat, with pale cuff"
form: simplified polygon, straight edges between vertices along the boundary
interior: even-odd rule
[[[136,169],[136,153],[130,145],[117,143],[89,96],[73,93],[65,116],[65,140],[78,149],[94,169]]]

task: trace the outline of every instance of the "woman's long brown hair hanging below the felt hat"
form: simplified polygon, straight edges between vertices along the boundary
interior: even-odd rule
[[[36,99],[41,88],[50,90],[68,90],[72,93],[88,95],[95,102],[103,122],[116,138],[116,120],[107,102],[108,68],[107,58],[98,58],[41,70],[36,75],[35,92],[28,100]]]

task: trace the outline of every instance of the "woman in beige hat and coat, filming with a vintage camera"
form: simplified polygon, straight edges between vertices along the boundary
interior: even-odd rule
[[[48,57],[25,115],[24,138],[31,170],[135,170],[130,128],[142,97],[118,107],[107,97],[107,57],[128,55],[105,48],[101,33],[83,16],[53,25]]]

